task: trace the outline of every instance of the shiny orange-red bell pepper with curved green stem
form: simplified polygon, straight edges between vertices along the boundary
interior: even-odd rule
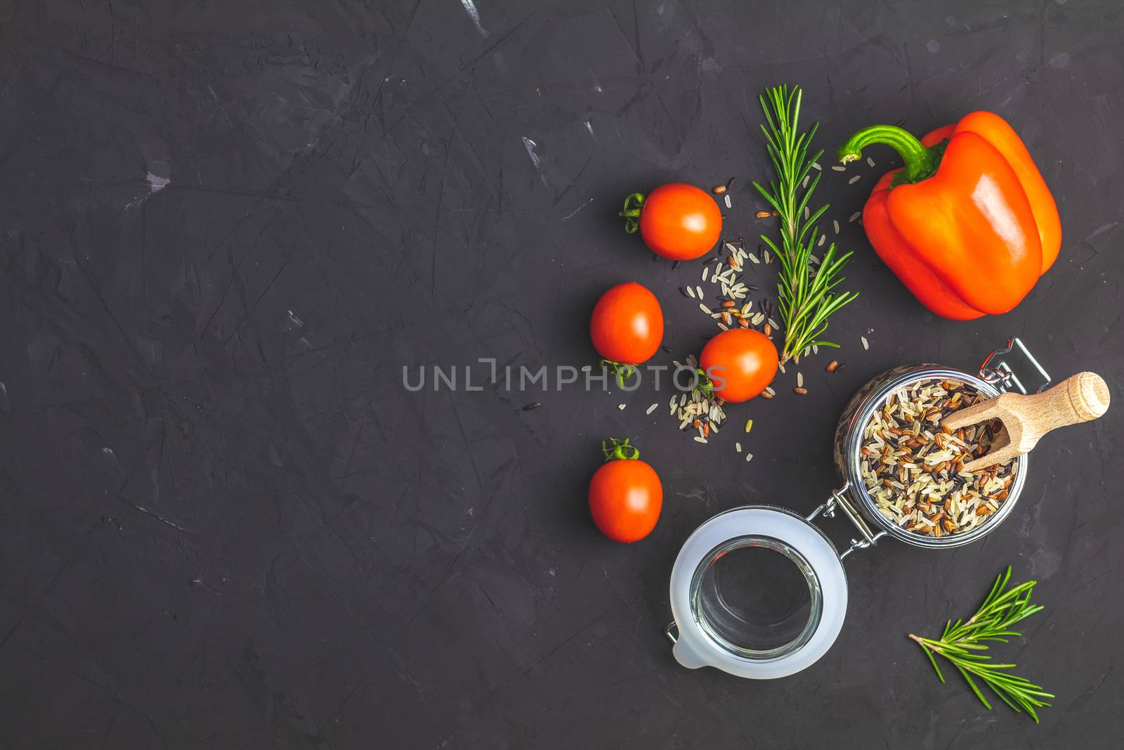
[[[852,162],[874,143],[905,166],[882,175],[862,209],[879,257],[937,315],[970,320],[1012,309],[1058,257],[1058,207],[1031,154],[998,115],[972,112],[918,141],[892,125],[855,133]]]

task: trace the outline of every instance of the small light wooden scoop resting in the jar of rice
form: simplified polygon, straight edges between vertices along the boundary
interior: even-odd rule
[[[1108,410],[1108,386],[1095,372],[1078,372],[1043,394],[1022,396],[1003,394],[941,421],[942,427],[960,430],[998,419],[1004,430],[996,435],[991,450],[964,464],[975,471],[1028,453],[1051,430],[1096,419]]]

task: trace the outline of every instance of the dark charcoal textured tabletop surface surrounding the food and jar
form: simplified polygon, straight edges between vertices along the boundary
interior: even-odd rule
[[[0,13],[0,746],[1118,744],[1121,405],[1043,441],[985,542],[849,559],[846,624],[800,675],[688,671],[662,629],[690,531],[822,501],[834,421],[880,370],[973,368],[1017,334],[1121,398],[1120,3],[371,4]],[[706,446],[644,415],[650,386],[402,388],[404,364],[595,362],[589,310],[626,280],[663,300],[661,361],[697,350],[698,264],[651,262],[615,211],[736,177],[728,233],[765,231],[755,96],[783,81],[828,148],[1000,112],[1058,199],[1053,271],[1008,315],[934,319],[847,226],[846,368],[822,353],[808,396],[782,380]],[[896,164],[871,155],[827,174],[828,218]],[[664,482],[635,545],[584,508],[609,434]],[[904,638],[1008,562],[1046,606],[1004,649],[1059,696],[1041,726]]]

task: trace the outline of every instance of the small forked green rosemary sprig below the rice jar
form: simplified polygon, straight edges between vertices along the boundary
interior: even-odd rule
[[[982,641],[1006,643],[1009,636],[1019,635],[1018,632],[1010,630],[1010,626],[1042,609],[1039,605],[1031,605],[1031,589],[1034,588],[1036,581],[1030,580],[1004,591],[1003,589],[1009,579],[1010,566],[1007,566],[1006,572],[995,579],[995,586],[991,587],[991,593],[984,599],[979,611],[969,617],[968,622],[958,620],[952,623],[950,621],[944,626],[944,634],[940,639],[921,638],[913,633],[909,634],[909,638],[925,651],[925,656],[933,662],[933,669],[936,670],[936,676],[941,678],[942,683],[944,675],[936,666],[934,653],[939,653],[952,662],[952,666],[968,680],[968,686],[972,688],[976,697],[989,711],[991,704],[984,697],[984,693],[972,679],[973,676],[984,680],[984,684],[991,688],[991,692],[1008,706],[1018,712],[1025,711],[1037,723],[1039,715],[1034,711],[1035,707],[1049,706],[1050,704],[1042,698],[1052,698],[1054,695],[1044,692],[1040,686],[1023,677],[1005,671],[1013,669],[1015,665],[991,663],[991,657],[978,653],[988,648]]]

